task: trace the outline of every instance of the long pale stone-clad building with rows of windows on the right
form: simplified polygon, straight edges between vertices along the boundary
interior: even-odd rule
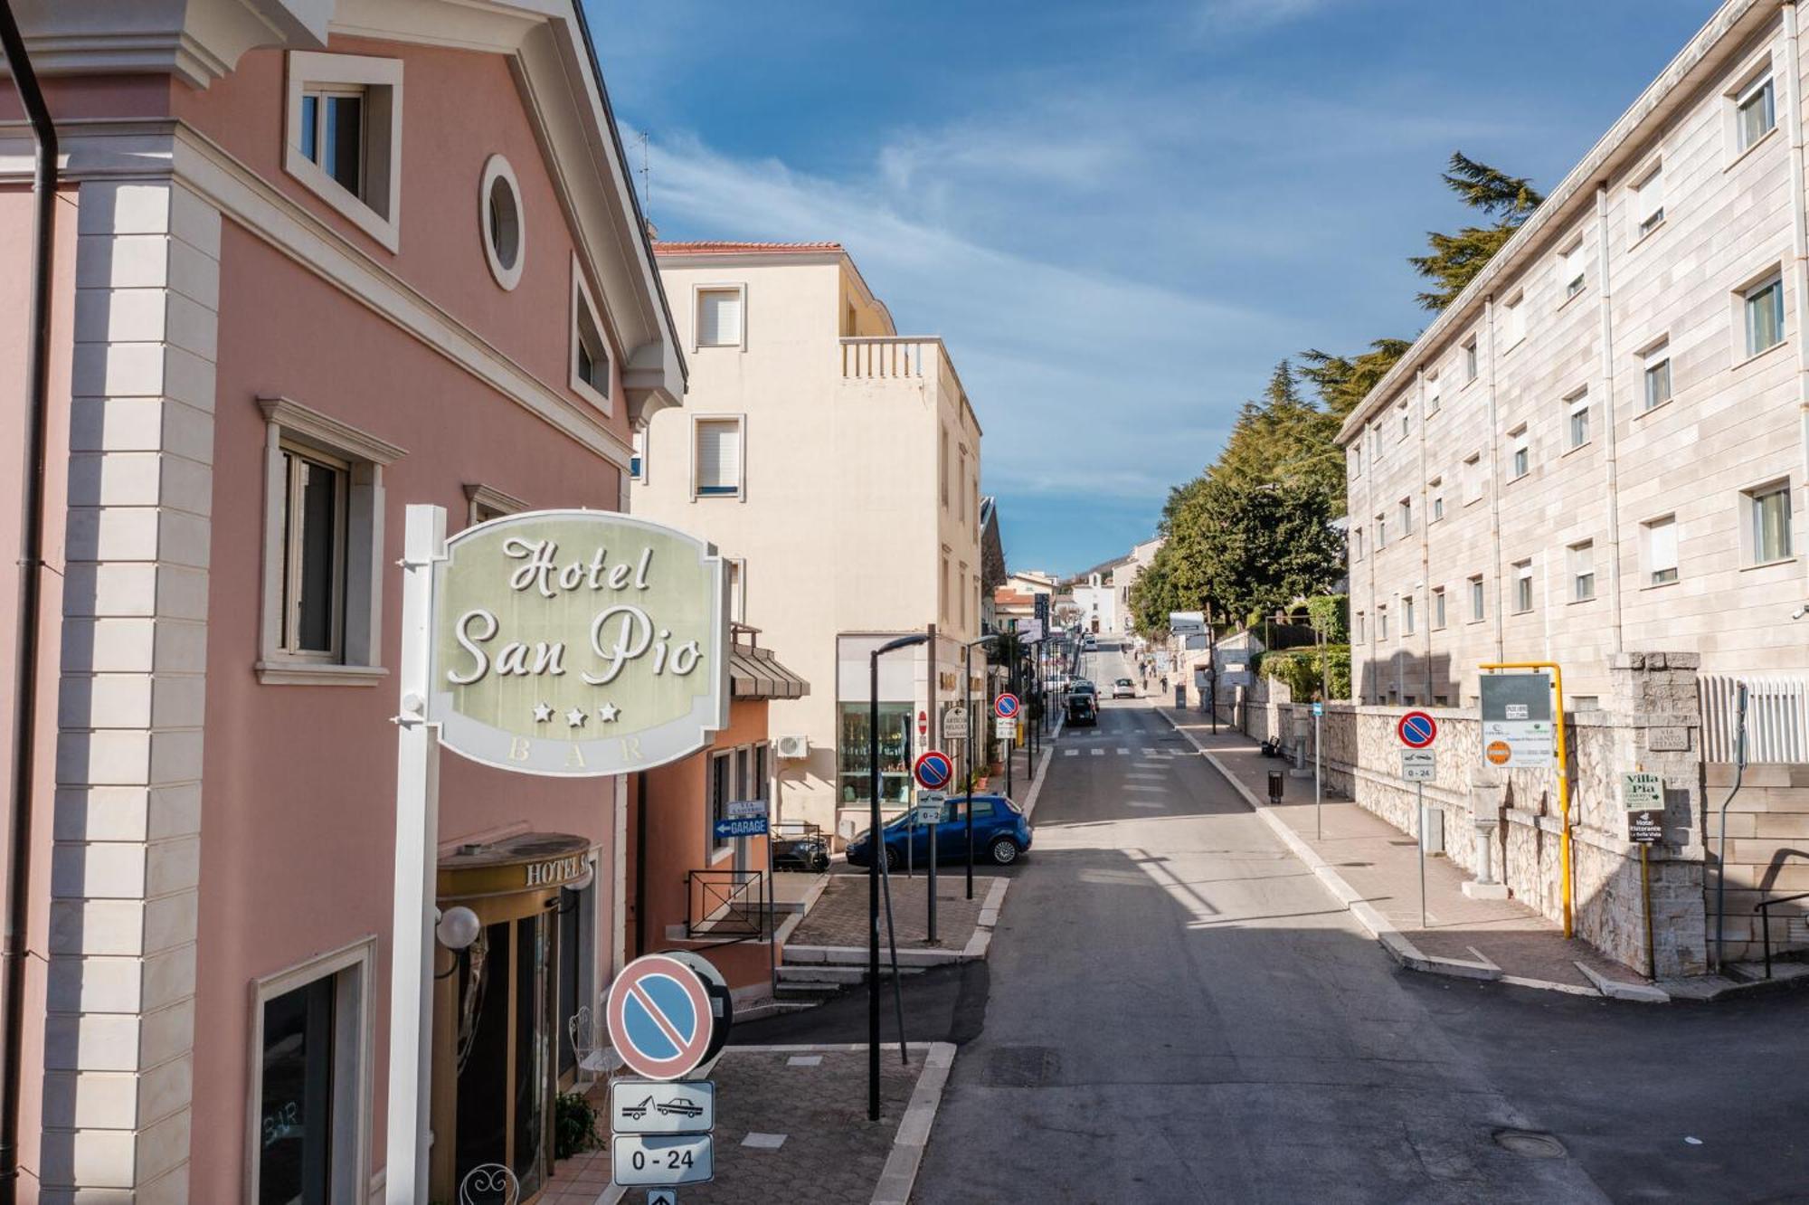
[[[1360,700],[1809,669],[1804,65],[1724,4],[1344,423]]]

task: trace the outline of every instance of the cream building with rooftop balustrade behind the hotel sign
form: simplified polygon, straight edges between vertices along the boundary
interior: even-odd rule
[[[639,434],[630,508],[733,559],[736,619],[814,688],[772,704],[780,816],[848,836],[867,825],[870,650],[937,633],[881,659],[883,803],[904,803],[930,744],[961,758],[944,713],[980,628],[980,425],[942,340],[899,337],[839,244],[657,257],[691,382],[684,413]]]

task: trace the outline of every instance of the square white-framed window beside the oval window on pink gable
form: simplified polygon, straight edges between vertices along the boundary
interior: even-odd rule
[[[291,51],[282,168],[394,251],[402,60]]]

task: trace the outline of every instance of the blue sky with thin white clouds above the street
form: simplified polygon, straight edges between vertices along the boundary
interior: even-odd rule
[[[836,239],[1013,568],[1143,539],[1277,360],[1413,337],[1453,150],[1552,186],[1711,0],[584,0],[669,239]],[[639,159],[639,152],[633,152]]]

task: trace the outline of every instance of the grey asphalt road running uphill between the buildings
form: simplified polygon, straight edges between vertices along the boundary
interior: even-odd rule
[[[1809,993],[1402,972],[1143,702],[1035,821],[988,966],[904,986],[962,1044],[917,1201],[1809,1201]],[[859,993],[736,1031],[863,1037]]]

